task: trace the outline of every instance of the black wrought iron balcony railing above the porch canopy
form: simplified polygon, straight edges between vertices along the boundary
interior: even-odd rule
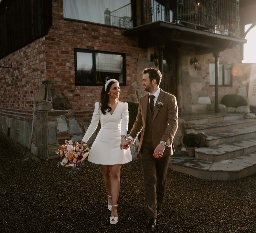
[[[238,36],[239,0],[142,0],[142,4],[141,24],[161,20]]]

